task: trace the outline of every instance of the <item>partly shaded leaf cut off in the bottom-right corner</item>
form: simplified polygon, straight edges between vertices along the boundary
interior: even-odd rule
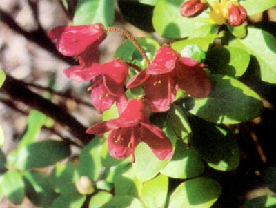
[[[276,196],[259,196],[248,200],[242,208],[275,208]]]

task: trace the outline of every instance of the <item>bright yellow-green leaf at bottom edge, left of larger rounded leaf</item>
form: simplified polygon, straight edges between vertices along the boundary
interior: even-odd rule
[[[165,207],[168,192],[168,177],[159,174],[143,184],[141,200],[146,207]]]

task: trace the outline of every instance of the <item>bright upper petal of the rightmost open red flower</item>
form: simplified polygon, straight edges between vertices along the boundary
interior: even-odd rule
[[[170,48],[169,45],[164,45],[155,54],[152,63],[146,68],[147,74],[165,74],[171,72],[175,68],[178,54]]]

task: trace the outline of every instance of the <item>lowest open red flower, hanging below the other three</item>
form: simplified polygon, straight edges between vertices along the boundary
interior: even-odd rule
[[[103,121],[87,129],[88,134],[109,132],[108,150],[117,159],[124,159],[132,154],[135,162],[135,147],[140,142],[146,143],[160,160],[172,157],[173,149],[164,132],[150,124],[144,102],[132,99],[126,105],[119,118]]]

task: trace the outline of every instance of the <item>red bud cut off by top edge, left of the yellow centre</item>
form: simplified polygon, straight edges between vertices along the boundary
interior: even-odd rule
[[[189,0],[184,2],[180,8],[180,14],[184,17],[195,17],[208,7],[208,3],[200,0]]]

